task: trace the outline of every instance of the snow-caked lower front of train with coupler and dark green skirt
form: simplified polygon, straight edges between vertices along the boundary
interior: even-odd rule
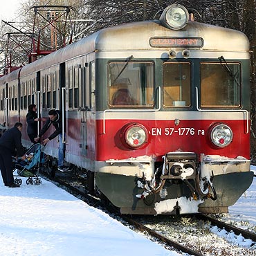
[[[228,212],[253,181],[244,157],[170,152],[163,162],[145,157],[100,165],[95,184],[122,214]]]

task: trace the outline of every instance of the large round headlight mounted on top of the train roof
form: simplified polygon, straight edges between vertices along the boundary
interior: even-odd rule
[[[180,4],[172,4],[163,11],[160,21],[167,28],[179,30],[188,23],[188,10]]]

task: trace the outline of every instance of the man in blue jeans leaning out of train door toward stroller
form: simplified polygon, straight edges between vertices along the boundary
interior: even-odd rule
[[[42,130],[39,132],[38,137],[35,138],[35,142],[39,141],[39,139],[46,133],[46,131],[49,129],[49,127],[51,127],[51,125],[55,127],[55,131],[53,132],[53,134],[48,136],[48,138],[44,139],[42,143],[46,145],[46,143],[48,143],[50,140],[59,135],[60,147],[58,152],[58,170],[64,172],[66,170],[63,165],[65,144],[62,140],[65,138],[62,138],[62,112],[60,110],[51,109],[48,112],[48,117],[49,118],[48,120],[46,120],[46,123],[44,124]]]

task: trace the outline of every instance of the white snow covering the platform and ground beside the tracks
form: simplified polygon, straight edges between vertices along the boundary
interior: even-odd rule
[[[49,181],[26,185],[26,178],[22,179],[20,188],[4,187],[0,181],[0,255],[182,255],[123,226]],[[230,221],[245,220],[256,226],[255,180],[230,208]],[[225,235],[217,228],[212,232]],[[252,244],[237,236],[228,239],[241,246]]]

